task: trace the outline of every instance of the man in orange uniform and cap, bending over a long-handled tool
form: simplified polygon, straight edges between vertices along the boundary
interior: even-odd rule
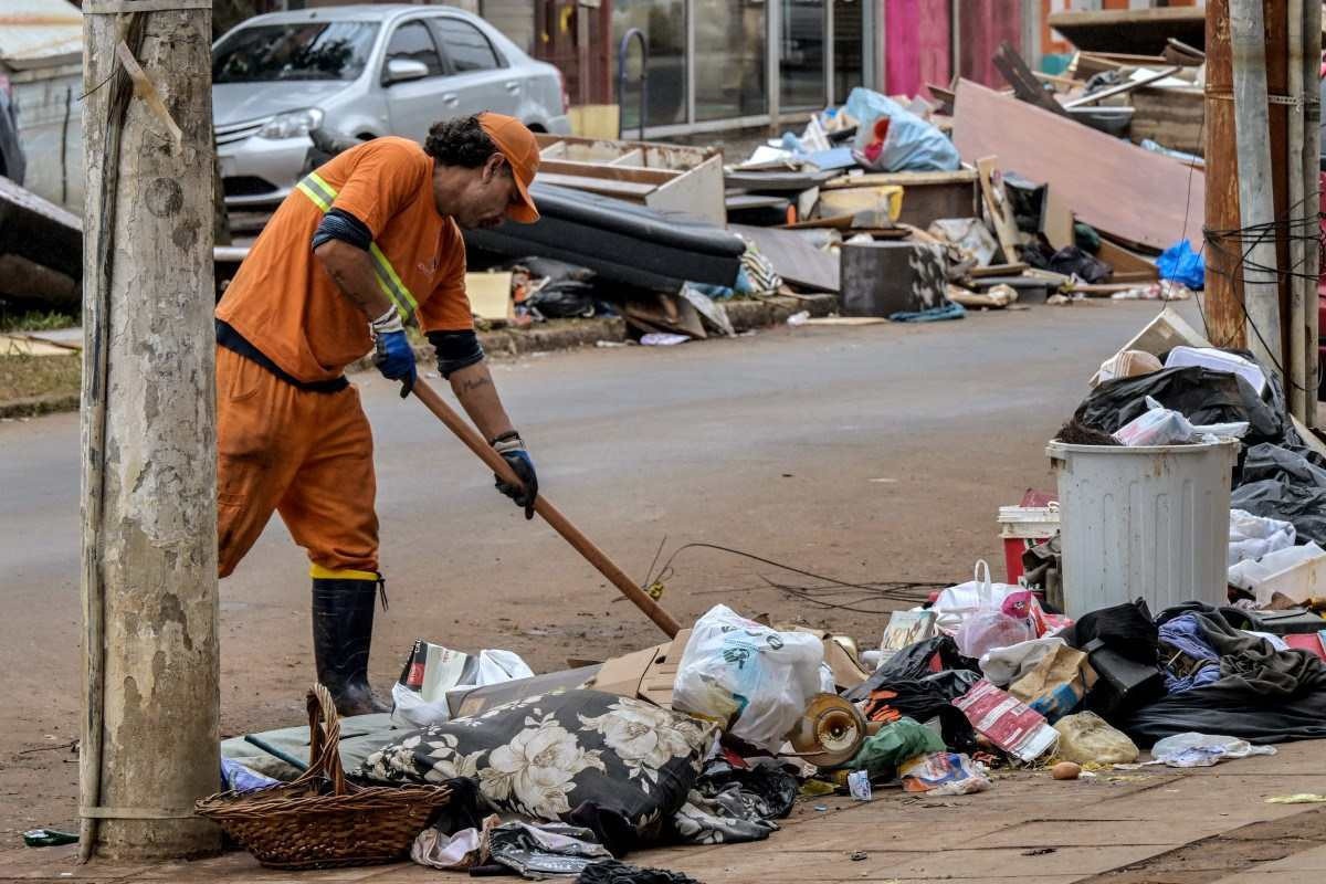
[[[538,480],[475,335],[460,229],[536,221],[537,168],[530,131],[492,113],[435,123],[423,147],[353,147],[281,203],[216,307],[220,575],[278,512],[312,562],[314,660],[342,714],[385,709],[367,679],[382,586],[373,435],[342,372],[374,351],[407,396],[404,326],[418,321],[442,376],[521,480],[497,489],[533,517]]]

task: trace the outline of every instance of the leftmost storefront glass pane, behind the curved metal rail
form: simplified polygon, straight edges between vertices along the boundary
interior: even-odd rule
[[[615,0],[613,3],[613,78],[617,80],[617,46],[631,28],[644,32],[650,46],[647,126],[686,122],[686,3],[683,0]],[[622,129],[640,125],[640,50],[631,41],[626,66]]]

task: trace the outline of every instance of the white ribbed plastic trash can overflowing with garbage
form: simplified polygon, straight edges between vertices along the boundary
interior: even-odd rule
[[[1143,598],[1224,604],[1238,441],[1045,449],[1059,481],[1065,614]]]

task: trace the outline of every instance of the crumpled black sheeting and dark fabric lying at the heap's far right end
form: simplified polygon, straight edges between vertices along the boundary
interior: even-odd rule
[[[1326,663],[1307,651],[1276,651],[1204,604],[1167,608],[1158,622],[1180,614],[1196,616],[1203,640],[1220,655],[1220,680],[1162,697],[1111,724],[1139,746],[1187,730],[1254,744],[1326,737]]]

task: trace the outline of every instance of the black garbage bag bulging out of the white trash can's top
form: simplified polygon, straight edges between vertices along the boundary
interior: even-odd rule
[[[1286,441],[1284,408],[1264,402],[1241,376],[1200,366],[1106,380],[1078,406],[1074,420],[1113,433],[1147,411],[1147,396],[1181,412],[1193,424],[1245,420],[1249,428],[1244,441],[1249,445]],[[1298,441],[1297,435],[1288,441]]]

